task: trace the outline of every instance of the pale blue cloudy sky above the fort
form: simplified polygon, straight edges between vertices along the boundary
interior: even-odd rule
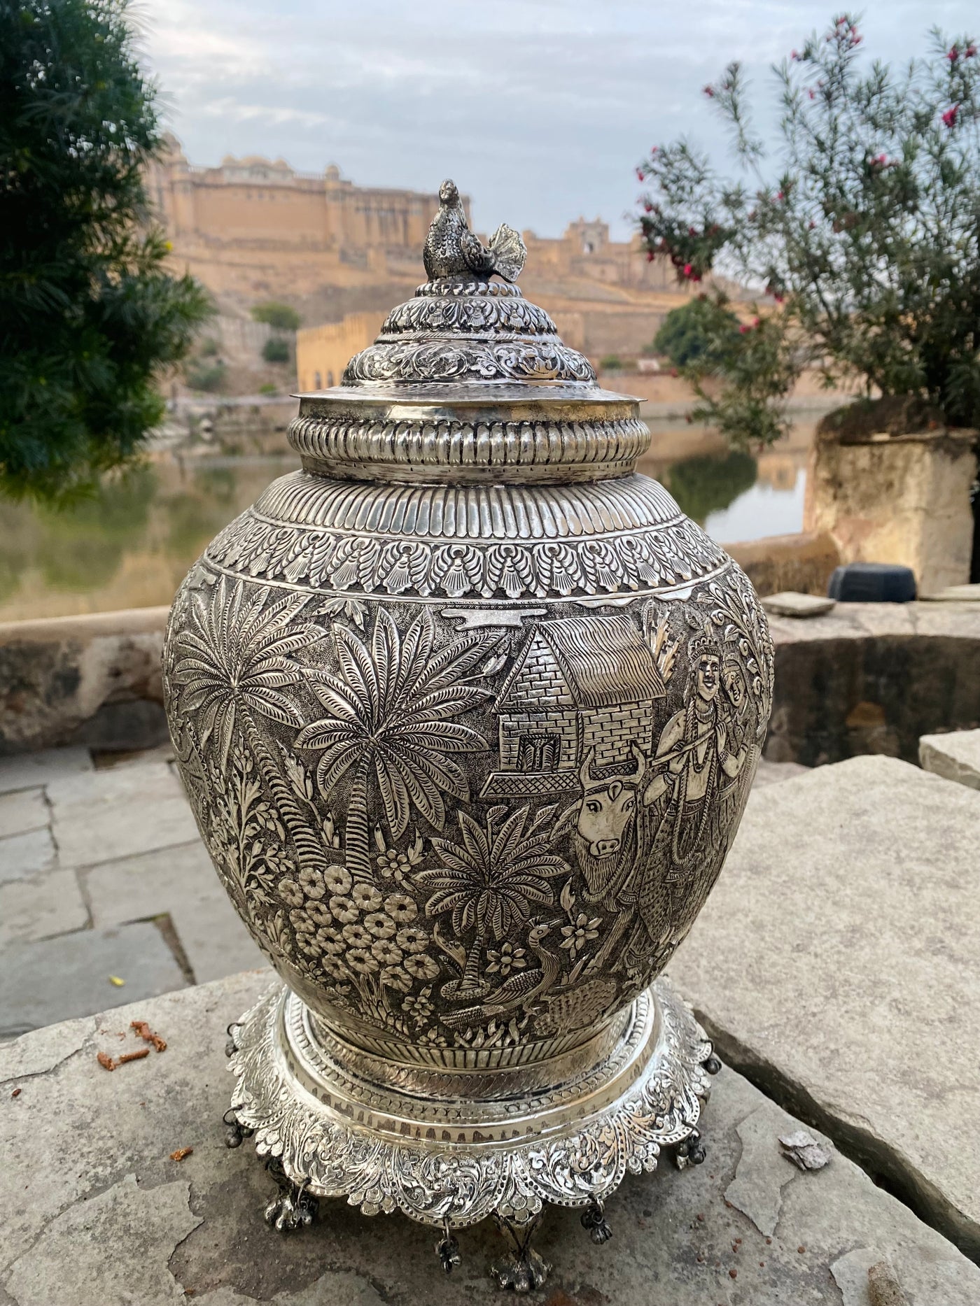
[[[685,135],[721,158],[702,93],[732,59],[770,68],[827,27],[827,0],[140,0],[144,60],[191,163],[281,155],[361,185],[472,196],[473,222],[561,235],[580,214],[631,230],[635,167]],[[870,56],[904,63],[937,24],[980,34],[972,0],[868,0]],[[763,118],[764,123],[764,118]]]

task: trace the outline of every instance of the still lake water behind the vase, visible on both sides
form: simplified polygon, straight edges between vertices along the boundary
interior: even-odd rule
[[[804,457],[653,452],[640,470],[728,543],[802,528]],[[64,513],[0,502],[0,622],[170,603],[208,541],[294,466],[293,456],[166,454]]]

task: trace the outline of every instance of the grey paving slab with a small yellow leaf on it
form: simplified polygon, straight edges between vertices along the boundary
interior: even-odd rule
[[[124,985],[116,987],[110,976]],[[186,985],[150,922],[13,944],[0,951],[0,1040],[43,1027],[52,1008],[88,1015]]]

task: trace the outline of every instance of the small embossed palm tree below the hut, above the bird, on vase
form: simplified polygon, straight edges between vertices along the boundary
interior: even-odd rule
[[[551,906],[554,893],[549,880],[563,875],[568,863],[553,853],[554,806],[542,807],[528,824],[529,807],[507,816],[506,807],[491,807],[486,828],[469,812],[457,812],[461,844],[434,838],[433,848],[442,866],[418,871],[416,880],[435,893],[426,904],[426,916],[452,912],[452,929],[463,939],[473,931],[463,978],[452,996],[470,1000],[486,991],[480,976],[480,960],[487,935],[500,942],[515,925],[523,925],[532,904]],[[443,986],[448,996],[451,985]]]

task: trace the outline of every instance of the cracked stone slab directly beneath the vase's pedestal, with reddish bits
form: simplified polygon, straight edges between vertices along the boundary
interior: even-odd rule
[[[223,1145],[231,1076],[225,1025],[265,989],[235,976],[68,1021],[0,1049],[0,1299],[10,1306],[490,1306],[499,1241],[460,1233],[444,1279],[435,1234],[342,1202],[284,1238],[261,1218],[272,1183],[251,1143]],[[148,1020],[167,1050],[106,1074],[98,1051],[136,1045]],[[119,1038],[118,1033],[127,1034]],[[21,1089],[16,1098],[10,1093]],[[844,1157],[801,1173],[777,1139],[798,1123],[723,1071],[704,1117],[708,1160],[627,1175],[608,1202],[613,1241],[576,1212],[538,1235],[547,1306],[869,1306],[886,1262],[909,1306],[976,1306],[980,1269]],[[178,1148],[193,1148],[183,1161]],[[750,1213],[746,1213],[750,1212]],[[763,1234],[759,1228],[774,1232]],[[5,1292],[5,1297],[3,1293]]]

